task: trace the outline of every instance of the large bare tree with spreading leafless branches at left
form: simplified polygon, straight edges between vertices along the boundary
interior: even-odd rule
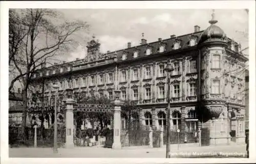
[[[72,36],[87,31],[89,25],[80,20],[61,21],[60,13],[50,9],[10,9],[9,14],[9,68],[13,69],[9,91],[16,81],[22,82],[25,132],[28,88],[36,69],[61,52],[67,53],[77,43]]]

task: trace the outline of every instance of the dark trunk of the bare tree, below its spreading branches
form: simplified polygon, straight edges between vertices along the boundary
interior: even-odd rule
[[[22,111],[22,138],[23,140],[27,140],[26,137],[26,126],[27,126],[27,96],[28,92],[26,89],[23,89],[22,91],[22,96],[23,96],[23,111]]]

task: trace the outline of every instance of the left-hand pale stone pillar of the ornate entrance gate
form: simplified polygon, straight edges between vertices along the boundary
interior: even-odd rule
[[[66,148],[74,148],[74,113],[72,98],[66,100]]]

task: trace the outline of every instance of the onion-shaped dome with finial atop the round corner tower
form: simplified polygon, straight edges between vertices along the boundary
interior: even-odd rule
[[[208,42],[208,41],[225,41],[226,34],[224,31],[216,26],[215,24],[218,22],[218,20],[215,19],[215,13],[213,10],[213,13],[211,14],[211,20],[209,20],[210,26],[204,30],[204,32],[201,34],[199,43]]]

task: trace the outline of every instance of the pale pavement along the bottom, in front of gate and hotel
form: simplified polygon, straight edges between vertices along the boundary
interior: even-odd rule
[[[220,146],[170,146],[171,158],[227,158],[246,157],[246,145],[220,145]],[[27,158],[165,158],[166,145],[162,148],[149,148],[148,146],[122,147],[120,150],[103,147],[75,147],[72,149],[58,148],[9,148],[9,157]]]

